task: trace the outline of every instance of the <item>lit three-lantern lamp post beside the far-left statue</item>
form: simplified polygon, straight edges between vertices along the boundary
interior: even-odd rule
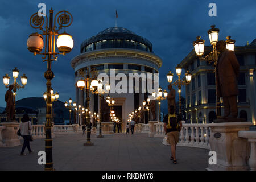
[[[16,105],[16,92],[17,92],[17,89],[20,89],[20,88],[24,88],[25,85],[27,84],[27,76],[25,74],[23,74],[23,76],[20,77],[20,80],[22,82],[22,86],[18,84],[17,82],[17,78],[19,76],[19,70],[15,67],[13,69],[13,78],[14,78],[14,82],[13,84],[10,84],[10,85],[13,85],[13,103],[14,103],[14,115],[11,116],[13,118],[9,118],[9,115],[7,114],[7,121],[10,121],[10,120],[15,120],[15,105]],[[9,88],[9,82],[10,82],[10,77],[8,76],[8,74],[5,74],[5,76],[3,76],[3,84],[5,85],[5,88]]]

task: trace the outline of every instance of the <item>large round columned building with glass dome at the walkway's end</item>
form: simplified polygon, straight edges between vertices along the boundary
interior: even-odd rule
[[[96,68],[99,73],[106,73],[110,77],[110,69],[115,69],[115,75],[124,73],[158,73],[162,66],[162,59],[152,51],[152,44],[145,38],[122,27],[106,28],[96,36],[85,40],[81,44],[80,55],[74,57],[71,66],[75,71],[75,82],[79,80],[80,69]],[[117,85],[119,81],[115,81]],[[128,82],[128,81],[127,81]],[[109,84],[113,85],[110,80]],[[127,85],[128,86],[128,85]],[[76,102],[85,106],[85,90],[76,89]],[[105,98],[108,94],[105,94]],[[131,111],[142,106],[147,93],[109,93],[115,100],[114,110],[123,123]],[[90,110],[99,112],[99,96],[90,93]],[[125,125],[122,125],[125,131]]]

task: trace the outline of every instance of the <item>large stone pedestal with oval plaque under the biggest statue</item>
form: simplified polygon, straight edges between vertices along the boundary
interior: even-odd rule
[[[209,124],[210,148],[216,151],[217,164],[209,164],[207,170],[249,170],[250,144],[247,139],[238,137],[238,131],[249,130],[251,125],[251,122]]]

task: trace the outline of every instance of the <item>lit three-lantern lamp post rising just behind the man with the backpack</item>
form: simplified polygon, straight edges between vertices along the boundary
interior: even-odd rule
[[[191,81],[192,75],[191,75],[191,73],[189,73],[189,71],[187,71],[187,73],[185,73],[185,80],[186,81],[183,81],[183,79],[180,78],[181,73],[182,73],[182,68],[180,67],[180,64],[178,64],[175,69],[176,69],[178,79],[173,84],[171,84],[174,73],[172,73],[170,71],[167,74],[167,80],[168,80],[170,85],[177,86],[177,88],[179,89],[178,90],[178,92],[179,92],[179,114],[181,114],[181,87],[184,86],[184,85],[189,84],[189,82]]]

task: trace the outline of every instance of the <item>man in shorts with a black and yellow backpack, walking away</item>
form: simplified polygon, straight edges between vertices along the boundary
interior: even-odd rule
[[[179,142],[179,131],[182,128],[182,118],[174,113],[174,106],[170,106],[170,114],[164,116],[164,131],[167,134],[167,142],[171,146],[171,160],[176,164],[176,145]]]

